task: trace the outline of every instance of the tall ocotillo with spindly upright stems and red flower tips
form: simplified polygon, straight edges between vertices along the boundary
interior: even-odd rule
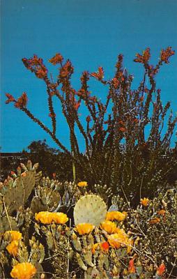
[[[25,92],[17,100],[6,93],[6,103],[13,102],[15,107],[38,123],[59,148],[72,158],[76,173],[78,169],[82,169],[80,178],[86,179],[90,185],[106,183],[112,187],[114,193],[121,190],[123,195],[132,194],[133,197],[141,196],[141,193],[153,195],[157,188],[167,184],[167,176],[176,165],[176,156],[170,149],[170,142],[177,118],[173,118],[171,112],[169,119],[165,119],[170,103],[162,105],[160,89],[156,88],[155,82],[160,67],[169,63],[172,55],[174,50],[167,47],[161,51],[157,65],[152,66],[149,62],[149,48],[143,54],[136,54],[134,62],[144,66],[144,75],[138,88],[132,89],[133,76],[123,68],[123,55],[119,54],[116,72],[111,80],[105,80],[102,67],[95,73],[84,71],[78,91],[71,84],[74,72],[72,63],[70,60],[64,61],[61,54],[57,53],[49,59],[49,63],[59,67],[59,75],[55,81],[49,75],[43,59],[37,55],[31,59],[22,59],[24,66],[46,84],[52,130],[26,108],[28,98]],[[107,88],[105,103],[89,91],[88,83],[91,78]],[[54,98],[61,103],[68,123],[70,150],[56,136]],[[88,111],[86,128],[79,116],[80,106],[85,106]],[[162,135],[166,121],[166,133]],[[150,132],[147,126],[151,127]],[[79,149],[76,128],[84,137],[85,155]],[[165,163],[162,163],[162,155],[167,156]]]

